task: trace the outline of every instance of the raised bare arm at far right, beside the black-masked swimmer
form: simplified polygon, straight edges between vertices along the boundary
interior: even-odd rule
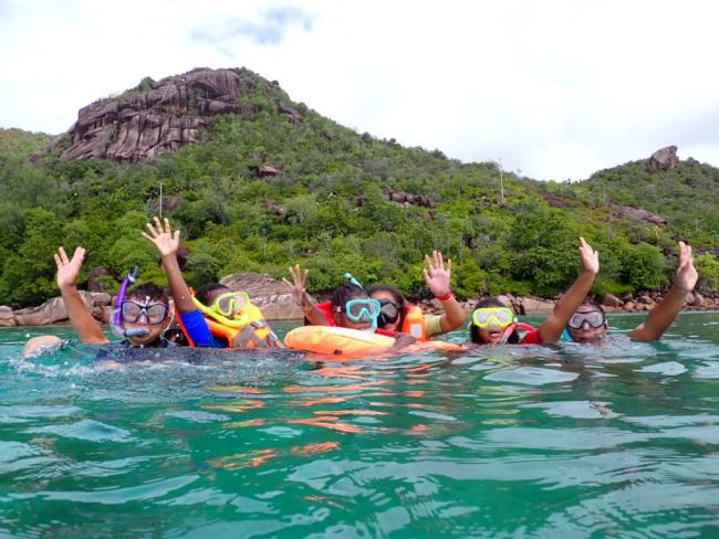
[[[634,331],[629,334],[633,340],[656,340],[671,325],[674,319],[681,310],[687,295],[694,289],[699,275],[694,267],[691,247],[684,242],[679,242],[679,268],[677,276],[674,278],[671,288],[664,299],[654,307],[647,319],[644,320]]]

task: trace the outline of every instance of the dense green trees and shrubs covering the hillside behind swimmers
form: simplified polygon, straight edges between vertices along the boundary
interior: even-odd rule
[[[119,278],[139,264],[143,278],[165,282],[140,236],[158,211],[160,184],[165,200],[178,202],[165,214],[191,250],[186,275],[195,286],[236,272],[284,276],[300,263],[311,271],[311,292],[332,289],[352,271],[364,283],[420,296],[424,254],[439,249],[454,260],[460,297],[552,296],[577,275],[583,235],[601,251],[595,292],[622,293],[666,285],[678,237],[718,244],[719,169],[707,165],[689,160],[649,175],[633,162],[574,184],[504,173],[507,202],[499,204],[494,163],[359,135],[303,104],[294,106],[304,123],[291,124],[277,106],[289,97],[260,83],[244,97],[259,108],[253,118],[219,117],[206,142],[144,165],[53,155],[33,165],[27,156],[48,137],[1,131],[0,304],[55,295],[58,245],[86,247],[86,270],[103,266]],[[282,173],[259,178],[265,163]],[[388,190],[427,195],[436,207],[392,202]],[[613,203],[644,207],[669,223],[632,221]],[[717,287],[719,263],[705,254],[700,265],[704,286]]]

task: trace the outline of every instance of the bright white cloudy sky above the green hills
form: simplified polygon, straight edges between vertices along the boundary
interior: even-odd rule
[[[244,66],[406,146],[583,179],[675,144],[719,166],[719,3],[0,0],[0,127],[61,133],[94,99]]]

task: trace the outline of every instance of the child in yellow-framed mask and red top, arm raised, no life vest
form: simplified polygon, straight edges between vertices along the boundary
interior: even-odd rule
[[[538,329],[530,328],[527,335],[520,337],[514,311],[497,298],[484,298],[480,299],[472,313],[469,327],[470,341],[473,345],[530,345],[559,341],[564,327],[588,294],[600,271],[600,255],[583,237],[580,237],[580,257],[584,268],[582,274],[556,302],[552,315]]]

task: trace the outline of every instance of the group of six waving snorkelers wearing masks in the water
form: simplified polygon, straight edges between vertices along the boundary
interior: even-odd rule
[[[157,249],[175,309],[170,308],[169,297],[161,286],[144,283],[128,287],[137,278],[136,274],[128,274],[117,295],[113,318],[113,330],[122,337],[121,346],[283,347],[247,293],[231,290],[219,283],[206,284],[192,293],[177,261],[180,231],[173,230],[167,219],[160,221],[155,218],[146,229],[142,234]],[[479,300],[471,314],[470,341],[466,346],[554,344],[560,340],[601,342],[607,332],[606,316],[602,305],[586,298],[600,272],[600,256],[584,239],[580,239],[579,254],[582,273],[538,328],[519,323],[513,310],[498,298],[486,297]],[[83,247],[77,247],[72,257],[63,247],[59,247],[54,255],[58,286],[80,340],[106,345],[110,339],[87,310],[77,290],[84,257]],[[465,311],[450,287],[451,261],[445,262],[442,254],[435,251],[431,256],[425,256],[425,283],[444,308],[440,316],[424,315],[393,286],[365,288],[351,274],[345,275],[345,282],[324,304],[315,303],[306,293],[308,270],[295,265],[290,268],[292,281],[283,281],[291,287],[295,303],[302,308],[305,325],[348,328],[390,337],[395,339],[393,348],[402,349],[466,324]],[[679,242],[679,266],[671,287],[644,323],[629,332],[629,338],[658,339],[676,318],[697,278],[691,247]],[[168,331],[175,320],[180,331]],[[52,346],[58,340],[49,336],[35,337],[25,346],[25,353]]]

